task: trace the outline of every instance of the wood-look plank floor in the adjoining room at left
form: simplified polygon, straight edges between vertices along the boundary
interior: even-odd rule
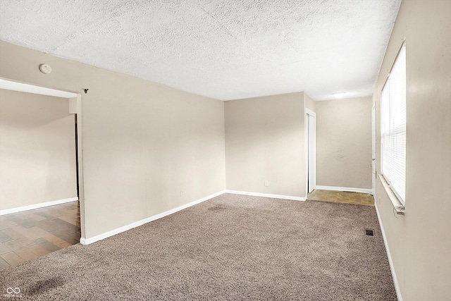
[[[0,269],[80,242],[78,202],[0,216]]]

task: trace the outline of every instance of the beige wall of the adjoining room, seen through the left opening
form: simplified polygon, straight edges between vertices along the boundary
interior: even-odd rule
[[[0,89],[0,210],[77,197],[68,99]]]

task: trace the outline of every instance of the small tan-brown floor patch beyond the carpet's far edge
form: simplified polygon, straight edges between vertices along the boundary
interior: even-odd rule
[[[333,190],[314,190],[309,193],[308,199],[314,199],[316,201],[347,203],[347,204],[359,204],[359,205],[374,205],[373,196],[369,193],[360,192],[346,192],[346,191],[333,191]]]

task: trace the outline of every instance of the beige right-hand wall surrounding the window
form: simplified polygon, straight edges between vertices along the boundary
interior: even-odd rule
[[[376,182],[376,206],[404,301],[450,300],[450,11],[451,1],[402,1],[373,94],[380,124],[383,83],[406,37],[405,216],[393,214],[381,181]],[[380,135],[378,130],[379,163]]]

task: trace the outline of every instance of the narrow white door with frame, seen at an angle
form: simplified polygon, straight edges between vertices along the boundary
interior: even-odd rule
[[[306,149],[307,149],[307,194],[316,187],[316,113],[309,109],[306,115]]]

